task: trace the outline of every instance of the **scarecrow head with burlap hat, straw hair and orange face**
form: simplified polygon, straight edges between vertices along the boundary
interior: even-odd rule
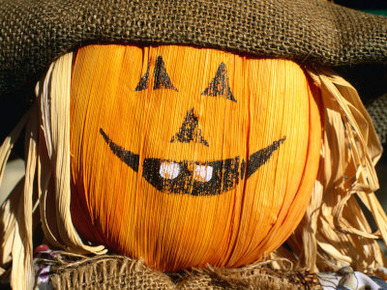
[[[248,265],[285,240],[313,271],[385,263],[358,203],[387,240],[380,143],[356,91],[323,69],[385,61],[384,18],[318,0],[94,2],[5,10],[20,15],[5,14],[0,89],[41,78],[0,151],[4,168],[28,121],[25,186],[1,207],[19,215],[3,235],[15,287],[32,273],[35,202],[51,245],[163,271]],[[51,22],[31,30],[23,13]]]

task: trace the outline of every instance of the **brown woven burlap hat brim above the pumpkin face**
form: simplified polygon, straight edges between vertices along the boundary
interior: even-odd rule
[[[387,61],[387,18],[322,0],[1,0],[0,94],[88,43],[176,43],[343,65]]]

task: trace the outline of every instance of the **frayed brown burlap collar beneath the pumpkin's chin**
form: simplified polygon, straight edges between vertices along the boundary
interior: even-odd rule
[[[59,260],[52,267],[55,289],[322,289],[315,274],[273,270],[266,263],[240,269],[203,268],[166,274],[141,260],[98,256]]]

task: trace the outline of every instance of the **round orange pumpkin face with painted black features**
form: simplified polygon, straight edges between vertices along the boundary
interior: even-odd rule
[[[253,263],[305,212],[319,118],[290,61],[82,48],[71,89],[74,223],[85,239],[160,270]]]

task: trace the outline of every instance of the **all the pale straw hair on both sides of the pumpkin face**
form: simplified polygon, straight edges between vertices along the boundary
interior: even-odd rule
[[[19,200],[21,209],[17,213],[18,217],[10,210],[11,199],[18,198],[14,194],[0,208],[2,220],[7,221],[8,225],[6,236],[4,236],[6,239],[1,245],[1,262],[4,264],[9,260],[12,249],[11,283],[18,289],[32,287],[32,181],[35,170],[37,171],[43,230],[50,243],[75,253],[100,254],[105,252],[103,246],[84,245],[71,220],[69,149],[71,64],[72,54],[60,58],[51,65],[44,83],[37,87],[41,102],[42,124],[40,131],[37,129],[37,124],[29,126],[27,130],[27,133],[31,135],[28,140],[29,153],[23,203]],[[354,228],[350,222],[343,219],[344,204],[355,192],[373,213],[385,241],[387,219],[373,194],[378,187],[374,165],[380,157],[381,147],[371,120],[356,91],[342,78],[331,73],[309,73],[322,91],[325,108],[322,162],[307,214],[289,242],[293,240],[292,245],[300,248],[299,252],[304,251],[304,256],[301,256],[301,259],[304,259],[302,266],[315,271],[327,266],[334,268],[340,263],[353,262],[356,257],[347,256],[340,248],[342,242],[354,244],[352,235],[366,238],[379,236],[379,234],[369,232],[368,223],[358,206],[352,210],[353,219],[361,224],[361,229]],[[38,113],[34,110],[36,108],[22,119],[11,133],[11,137],[8,137],[0,148],[0,180],[15,139],[25,126],[27,119],[35,120],[35,122],[38,119]],[[39,140],[38,143],[37,140]],[[349,144],[351,149],[349,149]],[[343,178],[345,175],[347,179]],[[53,191],[50,180],[53,182]],[[339,204],[333,208],[328,207],[325,201],[329,201],[338,193],[341,193],[342,196]],[[55,219],[59,236],[50,229],[48,223],[48,219],[52,220],[53,217],[46,216],[46,202],[50,194],[55,195]],[[337,228],[348,234],[338,232]],[[354,247],[356,247],[355,244]],[[319,248],[328,253],[331,259],[320,254]],[[367,257],[365,261],[361,261],[363,263],[361,269],[385,265],[376,242],[357,250],[364,251]],[[370,256],[374,260],[371,260]]]

